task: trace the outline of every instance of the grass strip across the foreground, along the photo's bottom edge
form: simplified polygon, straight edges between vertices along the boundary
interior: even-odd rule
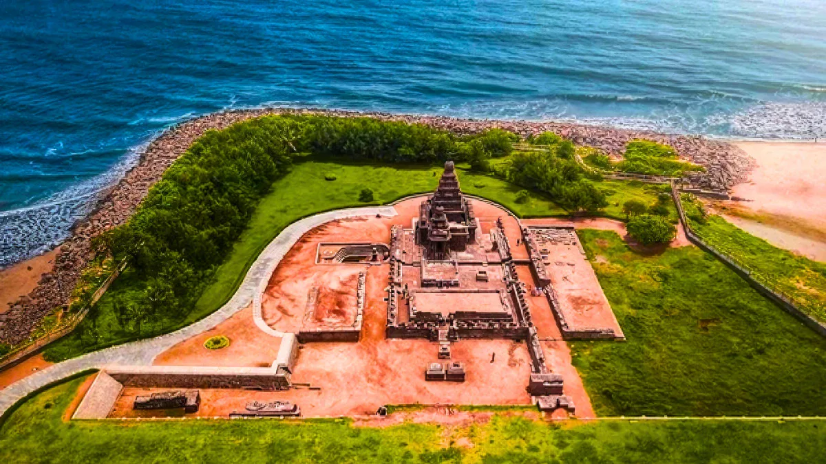
[[[33,396],[0,428],[5,462],[822,462],[824,421],[548,424],[497,414],[450,427],[348,420],[70,421],[83,378]]]

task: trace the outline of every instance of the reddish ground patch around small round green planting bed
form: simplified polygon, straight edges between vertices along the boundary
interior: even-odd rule
[[[204,347],[215,335],[225,335],[230,346],[221,349]],[[164,366],[269,367],[278,356],[281,339],[265,334],[253,322],[251,307],[238,311],[230,319],[192,339],[160,353],[154,364]]]

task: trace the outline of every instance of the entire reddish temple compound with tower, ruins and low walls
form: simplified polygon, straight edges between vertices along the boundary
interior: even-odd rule
[[[341,416],[404,404],[593,417],[565,340],[624,335],[576,231],[523,226],[464,196],[453,162],[432,195],[393,210],[310,230],[251,310],[153,366],[105,369],[75,417]],[[204,348],[216,334],[229,347]]]

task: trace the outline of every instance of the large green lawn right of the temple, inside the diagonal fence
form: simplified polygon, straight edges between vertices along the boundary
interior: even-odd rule
[[[695,247],[582,243],[628,341],[572,343],[600,415],[826,415],[826,339]]]

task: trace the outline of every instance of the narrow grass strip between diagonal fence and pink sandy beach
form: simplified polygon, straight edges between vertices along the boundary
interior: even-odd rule
[[[684,195],[686,215],[695,216],[698,201]],[[786,294],[800,310],[826,322],[826,263],[818,263],[759,239],[719,215],[705,222],[688,218],[691,230],[706,243],[743,264],[758,282]]]

